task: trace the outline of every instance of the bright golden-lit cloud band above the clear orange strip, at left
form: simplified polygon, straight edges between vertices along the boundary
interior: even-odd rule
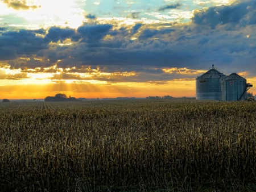
[[[30,60],[23,58],[21,60]],[[106,70],[106,69],[105,69]],[[81,68],[58,68],[57,64],[43,68],[36,67],[29,69],[11,69],[10,65],[3,65],[0,68],[0,79],[2,80],[43,80],[47,82],[77,82],[77,83],[96,83],[129,81],[129,77],[138,76],[136,72],[103,72],[100,67],[92,69],[91,66],[81,66]],[[27,82],[26,82],[27,83]]]

